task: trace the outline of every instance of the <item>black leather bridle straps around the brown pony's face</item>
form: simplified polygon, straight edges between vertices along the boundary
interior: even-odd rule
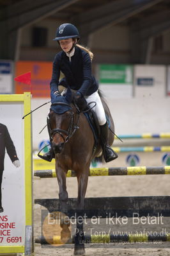
[[[52,103],[51,104],[51,106],[56,106],[56,105],[63,105],[63,106],[66,106],[66,107],[71,107],[69,104],[63,103],[63,102],[56,102],[56,103]],[[49,126],[49,129],[50,129],[50,131],[49,131],[49,133],[50,133],[50,141],[52,141],[52,139],[54,138],[54,135],[56,133],[58,133],[62,137],[64,143],[66,143],[73,136],[75,131],[77,129],[79,129],[78,124],[79,124],[79,120],[80,120],[80,112],[78,112],[77,124],[74,124],[74,122],[75,122],[75,114],[73,112],[73,108],[71,107],[71,109],[68,110],[68,111],[71,112],[71,119],[70,119],[70,125],[68,127],[68,130],[63,130],[63,129],[60,129],[60,128],[51,129],[50,128],[50,117],[49,116],[47,117],[47,122],[49,124],[48,126]],[[66,137],[63,135],[63,133],[66,134]]]

